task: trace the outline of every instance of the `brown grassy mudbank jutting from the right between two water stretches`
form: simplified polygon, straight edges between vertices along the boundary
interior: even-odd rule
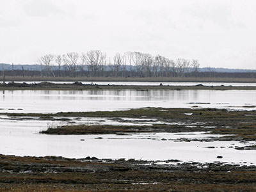
[[[247,108],[248,106],[246,106]],[[256,111],[230,111],[215,108],[140,108],[125,111],[68,112],[55,114],[41,113],[0,113],[13,120],[40,118],[40,120],[63,120],[67,125],[49,127],[45,134],[122,134],[130,132],[195,132],[209,131],[223,134],[214,140],[256,140]],[[70,117],[104,117],[122,123],[152,124],[152,119],[161,124],[152,125],[76,125]],[[124,120],[122,118],[136,118]],[[140,120],[141,119],[141,120]],[[228,136],[225,136],[225,134]]]

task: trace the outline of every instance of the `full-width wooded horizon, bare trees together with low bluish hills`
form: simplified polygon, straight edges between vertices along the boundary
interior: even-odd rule
[[[198,60],[152,56],[142,52],[116,53],[107,58],[101,51],[63,55],[46,54],[36,65],[0,64],[2,76],[27,77],[238,77],[256,78],[256,70],[200,68]]]

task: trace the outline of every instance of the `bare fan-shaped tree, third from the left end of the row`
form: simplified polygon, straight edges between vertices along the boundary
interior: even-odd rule
[[[76,76],[75,72],[77,70],[77,61],[79,59],[79,54],[77,52],[68,52],[63,55],[63,63],[68,68],[71,76]]]

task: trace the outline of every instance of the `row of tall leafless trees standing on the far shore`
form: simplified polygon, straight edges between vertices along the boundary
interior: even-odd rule
[[[116,53],[107,58],[101,51],[63,55],[46,54],[39,58],[42,76],[88,76],[88,77],[183,77],[197,76],[198,60],[178,58],[170,60],[164,56],[152,56],[143,52]]]

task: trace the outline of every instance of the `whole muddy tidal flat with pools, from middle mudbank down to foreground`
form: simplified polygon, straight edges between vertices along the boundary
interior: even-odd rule
[[[246,108],[1,113],[0,190],[255,191],[255,116]]]

